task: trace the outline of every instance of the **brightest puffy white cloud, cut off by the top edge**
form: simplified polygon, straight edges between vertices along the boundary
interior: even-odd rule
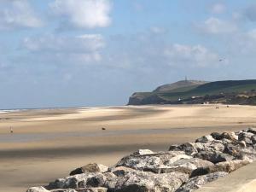
[[[109,0],[55,0],[49,7],[61,17],[61,28],[95,28],[111,23]]]

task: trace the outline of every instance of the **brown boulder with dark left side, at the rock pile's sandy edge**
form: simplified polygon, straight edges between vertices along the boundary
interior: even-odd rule
[[[102,164],[97,164],[97,163],[90,163],[87,164],[86,166],[79,167],[72,172],[69,173],[69,175],[77,175],[77,174],[82,174],[85,172],[107,172],[108,171],[108,166],[103,166]]]

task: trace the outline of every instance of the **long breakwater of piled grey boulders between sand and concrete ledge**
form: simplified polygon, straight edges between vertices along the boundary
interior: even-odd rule
[[[27,192],[189,192],[256,160],[256,129],[214,132],[169,151],[140,149],[112,167],[89,164]]]

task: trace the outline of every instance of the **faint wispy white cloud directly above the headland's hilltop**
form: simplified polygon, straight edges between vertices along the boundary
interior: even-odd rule
[[[173,44],[164,52],[171,65],[207,67],[218,64],[218,55],[202,45]]]

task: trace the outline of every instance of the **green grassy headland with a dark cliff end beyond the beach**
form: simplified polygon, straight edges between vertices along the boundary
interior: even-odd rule
[[[184,104],[204,102],[252,104],[252,98],[256,96],[255,90],[256,80],[227,80],[209,83],[204,81],[179,81],[174,84],[167,84],[167,86],[160,86],[152,92],[134,93],[130,97],[128,104]]]

